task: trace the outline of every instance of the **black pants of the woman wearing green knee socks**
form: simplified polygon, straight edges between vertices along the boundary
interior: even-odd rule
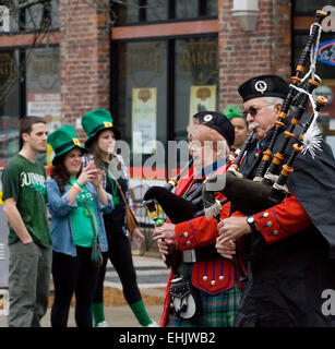
[[[136,273],[133,265],[128,237],[125,237],[122,231],[111,232],[108,227],[106,227],[106,232],[109,246],[108,252],[103,253],[104,264],[99,267],[98,284],[94,296],[94,303],[99,303],[104,299],[104,280],[108,258],[120,277],[123,294],[128,304],[137,302],[142,297],[137,287]]]

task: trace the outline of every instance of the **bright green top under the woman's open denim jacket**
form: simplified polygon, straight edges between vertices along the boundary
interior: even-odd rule
[[[71,178],[70,184],[77,183],[76,179]],[[77,183],[79,184],[79,183]],[[70,186],[71,186],[70,185]],[[79,184],[80,185],[80,184]],[[72,232],[74,244],[82,248],[92,248],[94,240],[94,231],[92,227],[92,220],[89,218],[88,210],[84,203],[87,204],[94,220],[95,231],[98,233],[98,225],[95,216],[93,195],[83,185],[81,192],[76,196],[76,208],[73,208],[70,213]]]

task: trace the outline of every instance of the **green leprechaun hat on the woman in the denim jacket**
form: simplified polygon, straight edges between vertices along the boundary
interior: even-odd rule
[[[52,165],[56,165],[58,163],[61,155],[70,152],[75,146],[77,146],[82,151],[82,154],[88,152],[84,146],[82,146],[81,142],[77,139],[75,130],[71,124],[64,124],[63,127],[50,133],[48,135],[48,143],[51,145],[55,152]]]

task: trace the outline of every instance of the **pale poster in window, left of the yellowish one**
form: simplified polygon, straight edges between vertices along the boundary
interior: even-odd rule
[[[134,154],[156,149],[157,88],[132,89],[132,147]]]

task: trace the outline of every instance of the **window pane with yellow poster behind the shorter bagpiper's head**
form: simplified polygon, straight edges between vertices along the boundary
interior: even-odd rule
[[[187,140],[187,127],[194,113],[217,110],[217,37],[176,40],[174,139]]]

